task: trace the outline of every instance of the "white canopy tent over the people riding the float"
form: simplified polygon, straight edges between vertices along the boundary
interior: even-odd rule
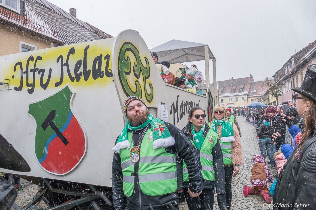
[[[171,64],[205,60],[206,87],[210,84],[209,60],[213,60],[213,82],[216,87],[216,59],[207,44],[170,40],[155,48],[152,52],[158,55],[159,60],[167,60]]]

